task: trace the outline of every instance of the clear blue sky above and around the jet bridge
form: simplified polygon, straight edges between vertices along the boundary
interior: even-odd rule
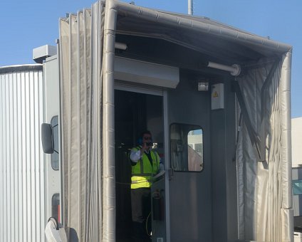
[[[33,48],[55,45],[58,19],[66,13],[90,8],[94,2],[1,0],[0,66],[33,63]],[[135,5],[187,13],[187,0],[136,0]],[[207,16],[293,46],[292,117],[302,117],[301,12],[301,0],[194,0],[194,15]]]

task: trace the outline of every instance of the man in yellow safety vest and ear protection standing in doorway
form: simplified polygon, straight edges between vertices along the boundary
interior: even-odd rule
[[[150,241],[151,231],[151,193],[152,177],[164,169],[157,152],[152,150],[150,131],[142,132],[139,146],[130,153],[131,207],[135,241]],[[147,222],[149,220],[149,222]]]

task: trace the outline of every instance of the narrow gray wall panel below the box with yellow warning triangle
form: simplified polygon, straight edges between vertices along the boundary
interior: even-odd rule
[[[235,241],[238,235],[236,162],[233,161],[235,94],[231,80],[224,78],[219,83],[224,83],[224,109],[211,112],[213,241]]]

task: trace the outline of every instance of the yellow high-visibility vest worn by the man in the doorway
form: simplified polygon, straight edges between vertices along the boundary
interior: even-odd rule
[[[138,151],[140,147],[135,147],[132,150]],[[160,169],[160,157],[157,152],[150,150],[152,166],[147,154],[142,154],[137,163],[132,166],[131,189],[152,186],[152,177],[157,174]]]

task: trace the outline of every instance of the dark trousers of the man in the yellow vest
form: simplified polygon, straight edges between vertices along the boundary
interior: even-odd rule
[[[151,241],[150,236],[148,235],[148,233],[151,232],[150,188],[131,189],[131,209],[135,242]],[[148,216],[149,218],[147,221]]]

